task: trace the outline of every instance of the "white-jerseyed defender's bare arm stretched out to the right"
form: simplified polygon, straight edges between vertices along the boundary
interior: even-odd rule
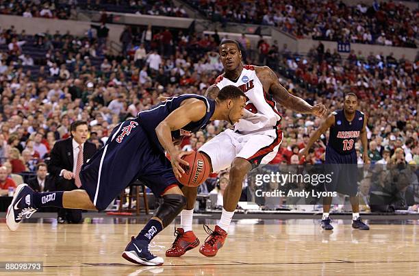
[[[274,71],[268,66],[259,67],[258,73],[264,81],[270,83],[269,90],[272,91],[275,100],[285,106],[285,108],[303,114],[313,114],[319,117],[327,115],[327,108],[324,104],[318,103],[312,106],[300,97],[291,95],[288,90],[279,83],[277,75],[275,75]]]

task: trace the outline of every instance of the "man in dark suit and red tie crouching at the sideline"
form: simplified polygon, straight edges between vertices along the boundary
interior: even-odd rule
[[[79,173],[81,165],[92,158],[96,146],[87,141],[88,123],[75,121],[71,124],[71,137],[55,142],[51,151],[49,171],[55,176],[57,190],[76,190],[81,187]],[[83,187],[81,187],[83,188]],[[79,223],[81,210],[60,209],[58,223]]]

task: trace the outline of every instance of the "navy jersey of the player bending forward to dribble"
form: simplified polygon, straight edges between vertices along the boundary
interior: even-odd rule
[[[205,116],[201,118],[200,121],[190,122],[188,123],[188,125],[182,127],[181,129],[172,131],[173,139],[178,139],[185,134],[190,134],[191,132],[195,132],[199,129],[206,127],[206,125],[210,122],[210,118],[212,117],[215,111],[216,102],[214,99],[208,99],[207,97],[194,94],[183,94],[177,97],[172,97],[167,101],[163,101],[162,103],[155,105],[150,110],[138,112],[138,122],[140,123],[144,131],[147,133],[149,140],[153,142],[153,144],[156,145],[160,150],[164,151],[162,145],[160,145],[159,139],[157,138],[157,134],[155,133],[155,128],[170,113],[179,108],[182,101],[191,98],[203,101],[207,106],[207,112],[205,113]]]

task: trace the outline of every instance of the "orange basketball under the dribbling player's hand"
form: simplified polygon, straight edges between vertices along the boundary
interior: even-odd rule
[[[208,178],[211,173],[210,162],[205,155],[194,151],[189,155],[184,155],[183,160],[189,163],[189,166],[181,164],[185,173],[182,173],[179,182],[188,187],[197,187]]]

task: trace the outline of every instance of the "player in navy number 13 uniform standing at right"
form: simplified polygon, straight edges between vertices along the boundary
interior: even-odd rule
[[[359,217],[359,201],[357,187],[357,152],[355,142],[361,137],[364,153],[362,159],[368,163],[368,140],[366,136],[366,115],[357,110],[358,99],[353,93],[346,94],[344,98],[344,109],[332,112],[327,119],[320,125],[304,149],[301,155],[307,156],[313,143],[329,131],[329,142],[326,147],[325,164],[333,172],[330,184],[325,184],[327,192],[341,192],[349,195],[352,205],[352,227],[361,230],[369,230]],[[329,210],[332,197],[323,198],[323,216],[321,227],[325,230],[332,230],[330,224]]]

